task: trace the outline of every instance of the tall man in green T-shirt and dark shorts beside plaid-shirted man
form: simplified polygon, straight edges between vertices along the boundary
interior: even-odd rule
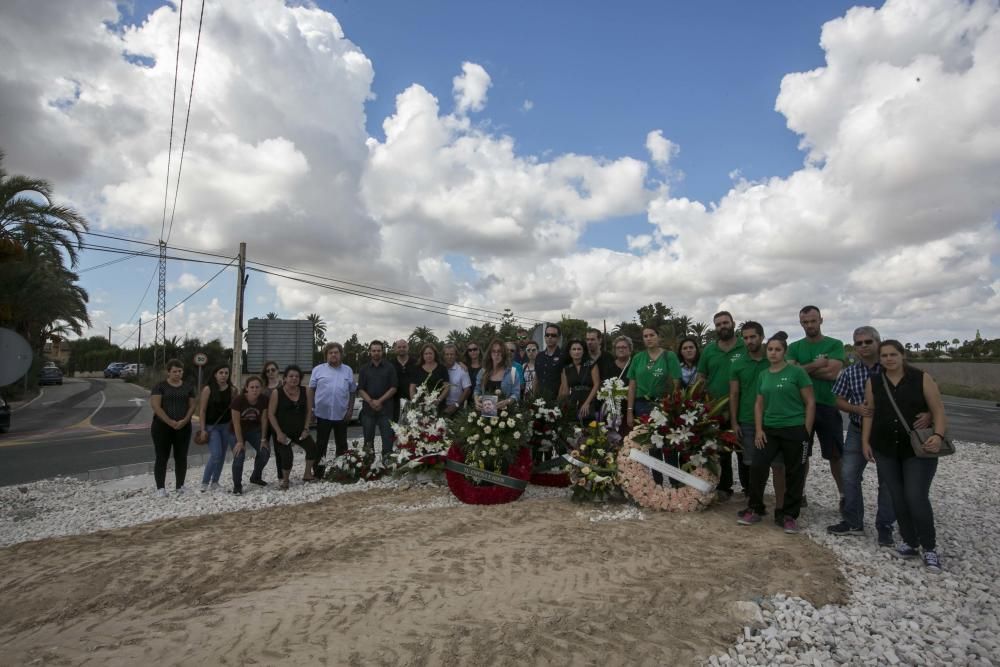
[[[844,484],[840,474],[840,461],[844,455],[844,421],[837,409],[833,395],[833,383],[844,368],[844,343],[823,335],[823,316],[816,306],[804,306],[799,311],[799,324],[805,332],[801,338],[788,346],[789,363],[802,367],[813,381],[816,395],[816,422],[813,433],[819,438],[823,458],[830,462],[830,473],[837,484],[841,503],[844,499]],[[812,435],[809,438],[809,452],[812,455]],[[809,460],[802,476],[809,474]]]

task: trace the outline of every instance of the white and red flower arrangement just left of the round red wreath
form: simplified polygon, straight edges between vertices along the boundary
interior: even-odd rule
[[[424,382],[407,402],[399,422],[392,425],[396,434],[393,452],[396,472],[440,469],[451,442],[448,423],[438,416],[438,391]]]

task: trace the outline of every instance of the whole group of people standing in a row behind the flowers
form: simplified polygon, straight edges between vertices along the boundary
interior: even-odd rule
[[[903,346],[881,340],[870,326],[854,331],[857,361],[845,368],[844,344],[822,332],[819,308],[799,312],[804,336],[792,343],[784,332],[765,336],[763,326],[744,322],[739,333],[726,311],[713,318],[715,339],[703,349],[695,337],[682,338],[677,351],[665,349],[659,331],[642,329],[643,349],[633,350],[627,336],[615,338],[610,351],[598,329],[588,329],[584,339],[560,345],[557,324],[544,328],[544,344],[534,340],[494,339],[483,349],[471,341],[459,349],[448,343],[440,350],[432,343],[420,346],[417,358],[405,340],[393,344],[388,358],[385,346],[373,341],[369,361],[359,371],[343,362],[343,347],[328,343],[325,361],[312,369],[302,387],[297,366],[284,370],[265,364],[263,378],[249,376],[242,391],[229,382],[229,369],[214,370],[200,395],[183,381],[183,366],[167,363],[166,379],[152,391],[154,412],[151,433],[156,449],[154,476],[157,493],[165,495],[167,460],[173,452],[178,492],[183,492],[191,420],[198,412],[199,442],[208,445],[210,457],[202,477],[203,492],[218,490],[227,450],[234,454],[233,493],[243,490],[243,465],[247,447],[256,451],[249,481],[267,485],[264,470],[272,449],[280,488],[287,489],[292,468],[292,446],[305,452],[303,481],[321,479],[331,436],[334,453],[347,451],[347,426],[355,395],[362,400],[360,421],[365,446],[381,436],[383,457],[392,452],[392,423],[398,422],[404,399],[418,388],[433,392],[439,413],[450,417],[462,408],[481,410],[483,401],[511,402],[544,398],[560,402],[570,415],[592,419],[599,410],[601,384],[618,378],[627,384],[623,428],[632,428],[676,386],[704,383],[711,398],[728,397],[723,413],[741,448],[736,452],[736,472],[747,507],[737,522],[755,525],[767,514],[764,490],[774,486],[774,521],[786,533],[797,533],[813,441],[840,494],[841,521],[828,528],[834,535],[864,534],[864,500],[861,481],[868,463],[878,472],[878,542],[895,548],[893,524],[899,524],[903,558],[921,555],[932,571],[940,570],[936,550],[933,510],[929,490],[937,458],[918,457],[910,446],[912,427],[933,427],[925,442],[928,453],[940,448],[947,418],[940,393],[925,372],[908,365]],[[893,406],[895,403],[895,407]],[[898,407],[898,410],[895,409]],[[846,438],[841,411],[848,413]],[[902,420],[901,420],[902,417]],[[310,424],[316,422],[316,437]],[[733,494],[732,457],[721,459],[718,493]]]

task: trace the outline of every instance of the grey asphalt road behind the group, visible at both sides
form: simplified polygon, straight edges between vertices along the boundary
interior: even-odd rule
[[[1000,407],[945,397],[950,435],[1000,444]],[[153,460],[149,393],[121,380],[67,379],[16,408],[0,435],[0,486]],[[846,422],[845,422],[846,428]],[[352,427],[351,439],[361,437]],[[192,445],[192,451],[194,451]]]

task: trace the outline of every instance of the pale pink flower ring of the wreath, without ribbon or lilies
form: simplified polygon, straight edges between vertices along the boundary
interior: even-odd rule
[[[622,490],[640,507],[667,512],[700,512],[715,499],[715,487],[719,478],[706,468],[696,468],[691,471],[695,477],[712,485],[711,491],[699,491],[693,486],[674,488],[670,484],[660,486],[653,481],[653,471],[638,461],[630,459],[628,453],[637,449],[645,453],[648,447],[635,441],[635,437],[646,430],[645,426],[637,424],[625,440],[618,452],[618,483]]]

